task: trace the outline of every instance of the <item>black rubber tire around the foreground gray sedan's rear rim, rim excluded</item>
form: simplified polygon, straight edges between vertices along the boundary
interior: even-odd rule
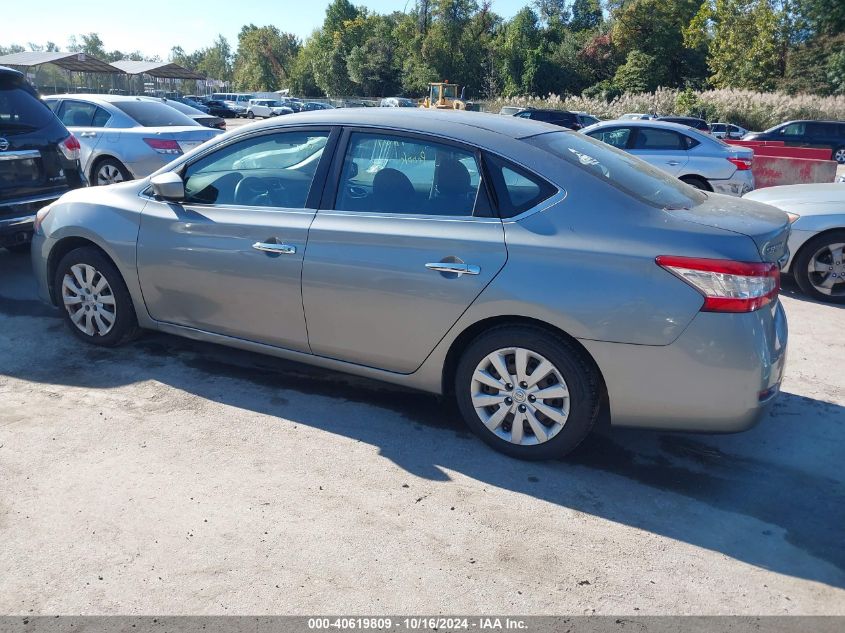
[[[542,354],[560,372],[569,390],[569,415],[563,427],[551,439],[533,446],[514,444],[490,431],[472,404],[476,367],[488,354],[509,347]],[[567,455],[589,435],[599,414],[599,384],[593,363],[571,341],[542,328],[503,325],[480,335],[463,351],[455,371],[454,392],[461,415],[484,442],[511,457],[544,460]]]

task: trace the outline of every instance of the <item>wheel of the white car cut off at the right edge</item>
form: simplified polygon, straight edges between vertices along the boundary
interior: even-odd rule
[[[827,303],[845,303],[845,230],[808,240],[792,264],[804,294]]]

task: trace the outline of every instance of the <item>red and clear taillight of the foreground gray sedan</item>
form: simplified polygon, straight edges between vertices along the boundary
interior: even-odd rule
[[[673,255],[661,255],[656,261],[704,296],[702,312],[753,312],[780,291],[777,264]]]

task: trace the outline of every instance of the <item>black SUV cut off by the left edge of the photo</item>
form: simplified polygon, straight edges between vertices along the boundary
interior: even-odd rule
[[[0,66],[0,248],[25,249],[38,209],[87,184],[79,150],[23,73]]]

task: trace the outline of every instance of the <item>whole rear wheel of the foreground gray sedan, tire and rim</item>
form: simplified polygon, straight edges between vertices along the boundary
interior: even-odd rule
[[[599,379],[584,353],[540,328],[502,326],[473,341],[455,372],[455,396],[468,426],[498,451],[552,459],[589,434]]]

